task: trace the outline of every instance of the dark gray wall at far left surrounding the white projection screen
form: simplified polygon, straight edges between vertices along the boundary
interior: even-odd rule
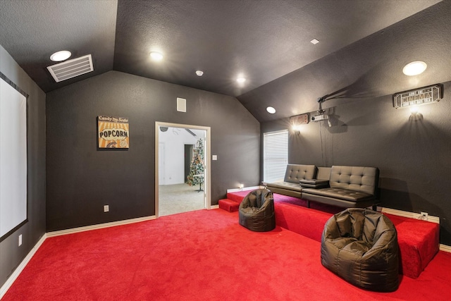
[[[0,46],[0,72],[29,95],[27,133],[28,222],[0,242],[0,286],[45,233],[45,94]],[[18,236],[23,244],[18,247]]]

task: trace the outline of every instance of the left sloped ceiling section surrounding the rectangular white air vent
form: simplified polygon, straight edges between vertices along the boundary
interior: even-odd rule
[[[113,69],[117,1],[0,0],[0,45],[44,92]],[[92,54],[94,71],[55,82],[51,54]]]

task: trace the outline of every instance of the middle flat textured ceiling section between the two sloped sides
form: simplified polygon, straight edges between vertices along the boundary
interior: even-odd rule
[[[238,96],[433,1],[119,1],[115,70]],[[313,45],[311,39],[319,39]],[[149,61],[149,51],[165,54]],[[204,71],[197,78],[194,71]],[[248,79],[240,87],[239,74]]]

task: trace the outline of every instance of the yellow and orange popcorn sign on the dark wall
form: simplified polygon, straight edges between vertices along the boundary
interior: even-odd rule
[[[99,148],[128,149],[128,118],[98,116]]]

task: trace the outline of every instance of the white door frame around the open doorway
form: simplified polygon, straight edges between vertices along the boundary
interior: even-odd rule
[[[187,125],[155,121],[155,216],[159,217],[159,133],[160,126],[168,128],[192,128],[205,130],[205,183],[204,183],[204,208],[211,209],[211,128],[209,126]]]

